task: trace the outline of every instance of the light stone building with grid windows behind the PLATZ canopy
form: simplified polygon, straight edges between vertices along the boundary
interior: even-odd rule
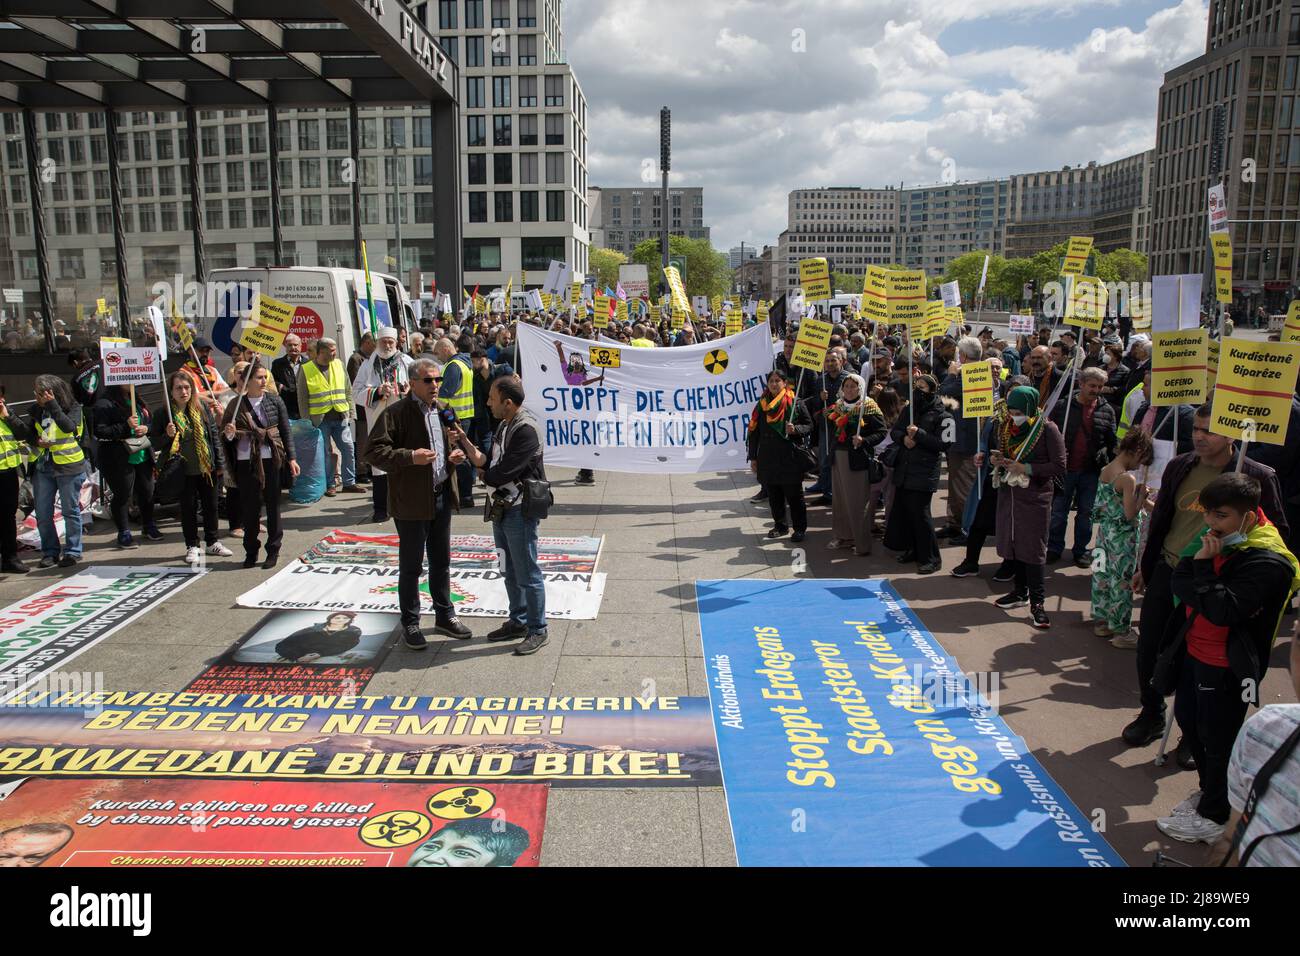
[[[491,289],[545,277],[551,259],[586,268],[586,100],[564,60],[559,0],[410,4],[458,62],[464,281]],[[485,9],[486,8],[486,9]],[[185,114],[117,112],[127,277],[134,312],[156,282],[195,274]],[[98,298],[117,299],[104,114],[36,113],[57,329],[87,337]],[[266,112],[200,111],[199,177],[207,268],[273,264]],[[31,196],[21,116],[4,112],[0,282],[38,298]],[[433,131],[429,111],[280,109],[281,224],[286,264],[352,265],[352,181],[370,267],[403,278],[433,272]],[[398,263],[398,213],[402,256]],[[455,290],[442,287],[459,304]],[[4,303],[0,303],[0,310]],[[77,345],[84,343],[77,341]]]

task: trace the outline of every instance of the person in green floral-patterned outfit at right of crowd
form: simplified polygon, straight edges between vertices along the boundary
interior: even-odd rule
[[[1138,646],[1130,633],[1134,593],[1128,581],[1138,570],[1138,532],[1147,497],[1147,468],[1154,460],[1150,434],[1132,428],[1119,442],[1115,458],[1101,470],[1092,522],[1097,544],[1092,561],[1093,633],[1110,637],[1117,648]],[[1141,470],[1141,480],[1134,472]]]

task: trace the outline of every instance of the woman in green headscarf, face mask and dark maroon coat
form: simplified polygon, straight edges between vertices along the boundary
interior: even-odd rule
[[[1065,438],[1040,414],[1034,386],[1017,386],[1006,397],[1006,416],[993,432],[989,463],[998,489],[997,553],[1014,562],[1011,593],[996,604],[1004,610],[1030,605],[1030,623],[1045,631],[1052,626],[1043,607],[1048,525],[1056,479],[1065,475]],[[975,464],[983,464],[983,455],[976,455]]]

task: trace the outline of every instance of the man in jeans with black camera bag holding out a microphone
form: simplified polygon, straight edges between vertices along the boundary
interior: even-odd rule
[[[515,653],[536,654],[550,637],[546,633],[546,584],[537,563],[537,524],[546,518],[551,489],[542,467],[542,442],[537,420],[520,407],[524,386],[519,376],[493,380],[488,407],[500,420],[493,438],[491,455],[485,455],[459,428],[452,438],[460,442],[465,458],[478,468],[491,490],[484,520],[491,522],[497,549],[506,559],[506,594],[510,618],[488,635],[490,641],[524,640]]]

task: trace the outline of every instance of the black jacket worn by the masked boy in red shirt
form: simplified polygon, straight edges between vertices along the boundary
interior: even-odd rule
[[[1174,597],[1212,624],[1228,628],[1227,662],[1239,682],[1264,680],[1278,631],[1282,606],[1291,594],[1291,562],[1258,548],[1227,555],[1214,572],[1209,558],[1182,558],[1174,568]],[[1161,693],[1178,687],[1178,670],[1187,654],[1191,618],[1182,607],[1161,636],[1153,684]]]

